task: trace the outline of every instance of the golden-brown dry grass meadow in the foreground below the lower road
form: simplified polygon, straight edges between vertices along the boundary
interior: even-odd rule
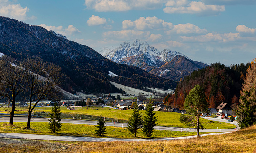
[[[256,153],[256,125],[224,135],[150,142],[0,139],[0,153]]]

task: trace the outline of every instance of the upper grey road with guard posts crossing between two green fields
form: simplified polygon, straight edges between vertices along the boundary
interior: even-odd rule
[[[0,116],[0,122],[9,122],[9,116]],[[207,118],[208,119],[208,118]],[[13,122],[27,122],[27,117],[14,117]],[[48,122],[48,118],[31,118],[31,122]],[[62,119],[61,123],[68,124],[87,124],[87,125],[97,125],[97,121],[88,121],[88,120],[72,120],[72,119]],[[114,127],[126,127],[126,123],[118,122],[106,122],[106,126]],[[170,131],[189,131],[196,132],[196,129],[189,128],[180,128],[180,127],[165,127],[165,126],[155,126],[155,130],[170,130]],[[200,132],[233,132],[236,129],[200,129]]]

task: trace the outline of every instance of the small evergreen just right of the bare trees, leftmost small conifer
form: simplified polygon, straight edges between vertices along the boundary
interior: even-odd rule
[[[55,106],[51,108],[51,113],[49,113],[49,124],[48,128],[51,130],[52,133],[55,133],[57,131],[61,131],[61,107],[57,106],[55,103]]]

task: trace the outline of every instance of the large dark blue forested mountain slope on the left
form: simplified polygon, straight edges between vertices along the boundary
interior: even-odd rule
[[[151,75],[142,69],[110,61],[92,48],[69,41],[54,31],[2,16],[0,52],[17,60],[40,57],[58,65],[63,74],[61,87],[71,93],[81,90],[85,93],[122,92],[109,80],[135,88],[151,86],[167,89],[176,86],[176,82]],[[108,76],[108,71],[118,77]]]

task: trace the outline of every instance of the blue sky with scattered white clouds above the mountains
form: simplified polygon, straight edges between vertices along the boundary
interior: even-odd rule
[[[0,0],[0,15],[95,51],[139,39],[208,64],[256,58],[256,0]]]

